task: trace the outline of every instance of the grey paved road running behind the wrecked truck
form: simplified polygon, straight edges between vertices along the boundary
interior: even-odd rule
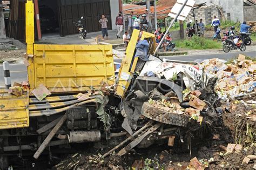
[[[245,51],[245,52],[231,52],[231,53],[217,53],[217,54],[207,54],[207,55],[190,55],[190,56],[165,56],[161,58],[172,59],[172,60],[185,60],[187,62],[194,61],[196,59],[210,59],[210,58],[220,58],[220,59],[232,59],[243,53],[244,55],[256,58],[255,51]],[[121,62],[120,59],[115,60],[115,62]],[[27,71],[24,64],[10,64],[11,82],[12,84],[16,82],[22,82],[27,79]],[[4,76],[3,76],[3,65],[0,65],[0,87],[4,86]]]

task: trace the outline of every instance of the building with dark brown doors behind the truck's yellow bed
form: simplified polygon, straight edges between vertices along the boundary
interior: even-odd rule
[[[6,23],[6,33],[9,37],[25,39],[25,2],[10,1],[10,17]],[[122,10],[121,0],[34,0],[36,18],[39,19],[36,35],[44,34],[67,36],[78,33],[73,22],[80,17],[87,32],[100,31],[98,23],[104,14],[109,20],[108,29],[116,29],[115,18]],[[39,36],[40,37],[40,36]]]

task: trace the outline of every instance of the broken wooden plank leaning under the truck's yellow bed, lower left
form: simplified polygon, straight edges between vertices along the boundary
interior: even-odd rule
[[[63,117],[59,120],[57,125],[51,130],[51,132],[48,134],[48,136],[43,141],[42,145],[37,149],[36,153],[33,155],[35,159],[37,159],[41,153],[44,151],[45,147],[49,144],[53,136],[58,132],[59,128],[63,125],[63,123],[66,121],[66,114],[63,115]]]

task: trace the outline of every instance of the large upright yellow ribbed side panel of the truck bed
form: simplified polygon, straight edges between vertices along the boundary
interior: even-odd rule
[[[51,92],[75,92],[98,88],[101,81],[114,84],[112,45],[35,44],[29,60],[29,77],[35,75],[30,89],[43,84]]]

